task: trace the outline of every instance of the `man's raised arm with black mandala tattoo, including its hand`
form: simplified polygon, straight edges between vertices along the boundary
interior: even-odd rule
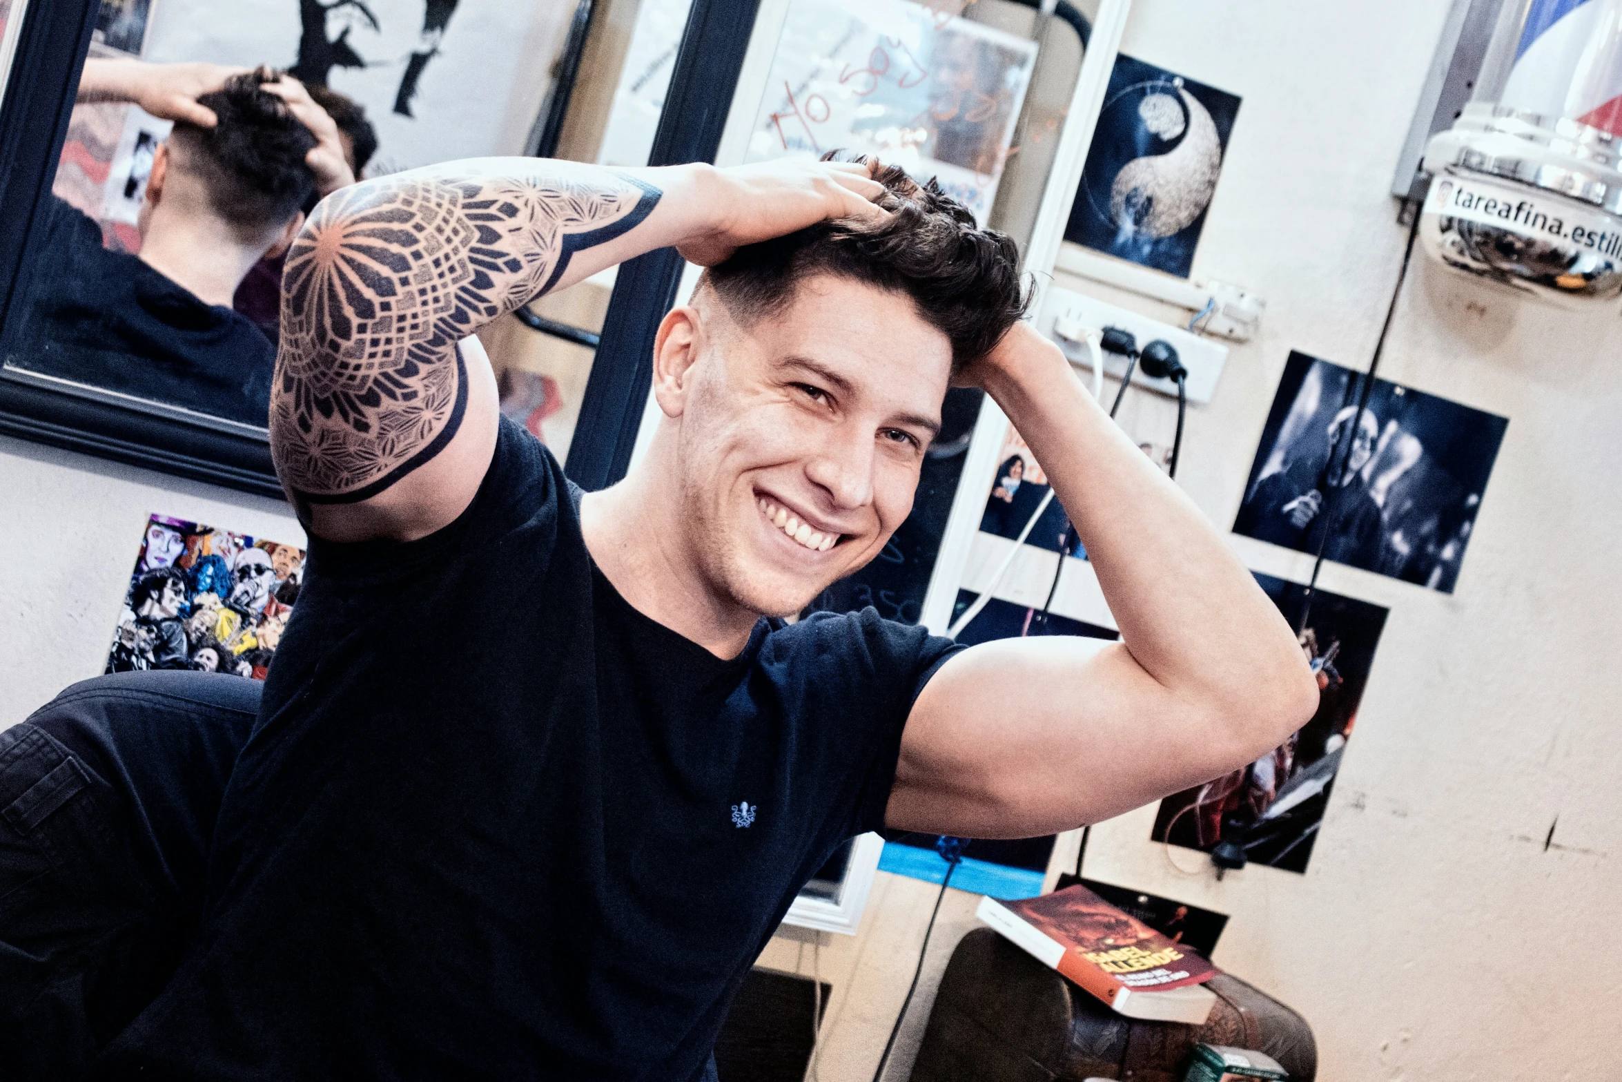
[[[282,276],[271,453],[303,524],[409,540],[472,501],[496,389],[472,337],[553,289],[654,248],[696,263],[826,217],[878,214],[863,165],[607,170],[477,159],[326,198]]]

